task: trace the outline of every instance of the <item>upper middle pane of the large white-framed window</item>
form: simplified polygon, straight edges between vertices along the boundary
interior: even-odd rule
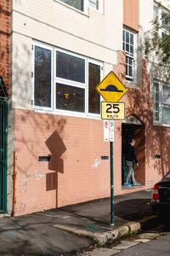
[[[85,60],[57,51],[56,76],[85,83]]]

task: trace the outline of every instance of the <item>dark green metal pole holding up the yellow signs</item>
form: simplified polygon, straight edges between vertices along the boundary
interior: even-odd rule
[[[113,186],[113,142],[111,145],[111,225],[115,224],[114,219],[114,186]]]

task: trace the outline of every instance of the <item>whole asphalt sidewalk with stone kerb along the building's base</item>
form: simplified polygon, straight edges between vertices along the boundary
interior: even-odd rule
[[[150,198],[151,190],[116,195],[114,226],[110,198],[0,218],[0,255],[77,255],[96,242],[139,230],[153,216]]]

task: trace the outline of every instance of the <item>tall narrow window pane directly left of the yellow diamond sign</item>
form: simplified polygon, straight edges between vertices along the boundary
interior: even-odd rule
[[[88,64],[88,112],[99,113],[100,97],[95,87],[100,82],[100,67]]]

